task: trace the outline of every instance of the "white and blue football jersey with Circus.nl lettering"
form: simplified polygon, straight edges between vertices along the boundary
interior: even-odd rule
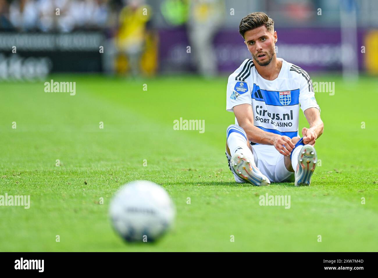
[[[277,59],[282,61],[282,68],[273,81],[262,78],[253,60],[246,59],[228,78],[226,110],[233,112],[234,106],[251,104],[254,126],[293,138],[298,136],[299,104],[303,111],[320,108],[308,73]]]

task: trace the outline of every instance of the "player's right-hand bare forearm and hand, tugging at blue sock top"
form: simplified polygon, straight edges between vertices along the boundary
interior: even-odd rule
[[[304,114],[310,124],[310,128],[304,127],[302,129],[303,143],[314,145],[315,140],[322,135],[324,129],[323,121],[320,118],[320,111],[315,107],[311,107],[304,110]]]

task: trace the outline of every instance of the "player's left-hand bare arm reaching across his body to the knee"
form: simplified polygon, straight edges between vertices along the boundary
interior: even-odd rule
[[[233,108],[237,122],[239,126],[244,129],[249,141],[259,144],[273,145],[280,154],[290,156],[290,153],[294,148],[291,139],[287,136],[263,131],[254,126],[251,104],[240,104]]]

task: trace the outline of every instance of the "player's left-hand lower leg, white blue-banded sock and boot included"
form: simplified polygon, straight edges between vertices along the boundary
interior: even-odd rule
[[[226,136],[226,154],[231,157],[229,166],[234,175],[252,185],[268,185],[269,179],[256,167],[245,131],[232,124],[227,128]],[[238,181],[237,178],[235,180]]]

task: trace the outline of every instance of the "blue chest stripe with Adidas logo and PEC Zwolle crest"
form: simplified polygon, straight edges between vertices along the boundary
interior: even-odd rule
[[[282,96],[280,99],[280,92],[290,92],[290,94],[285,95],[285,98],[289,99],[289,101],[283,101]],[[260,89],[260,87],[256,84],[253,84],[253,90],[251,93],[251,98],[256,99],[258,101],[264,101],[267,105],[274,105],[274,106],[291,106],[299,104],[299,89],[296,90],[282,90],[282,91],[268,91]],[[287,103],[283,105],[283,103]]]

